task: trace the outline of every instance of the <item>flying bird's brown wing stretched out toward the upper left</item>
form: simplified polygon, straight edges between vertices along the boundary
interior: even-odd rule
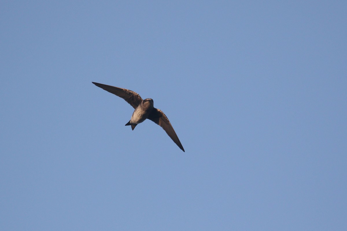
[[[94,82],[92,82],[94,83]],[[94,83],[96,86],[104,89],[105,91],[108,91],[112,94],[115,94],[116,96],[119,96],[120,98],[123,98],[125,101],[127,101],[133,108],[137,108],[139,104],[142,102],[142,98],[139,94],[137,94],[135,91],[130,91],[128,89],[120,88],[120,87],[113,87],[110,85],[105,85],[102,83]]]

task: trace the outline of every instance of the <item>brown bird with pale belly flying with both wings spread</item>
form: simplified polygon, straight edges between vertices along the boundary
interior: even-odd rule
[[[130,125],[132,130],[134,130],[137,124],[142,123],[146,119],[150,119],[154,123],[161,126],[164,131],[170,136],[170,138],[175,142],[175,144],[177,144],[177,146],[183,152],[185,152],[168,117],[166,117],[162,110],[153,106],[153,99],[142,99],[141,96],[135,91],[131,91],[125,88],[114,87],[96,82],[92,83],[95,86],[98,86],[112,94],[115,94],[116,96],[119,96],[120,98],[123,98],[135,109],[130,121],[125,126]]]

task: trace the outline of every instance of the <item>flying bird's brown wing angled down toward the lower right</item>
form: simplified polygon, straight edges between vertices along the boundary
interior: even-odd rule
[[[176,135],[176,132],[172,127],[168,117],[166,117],[166,115],[160,109],[153,108],[147,119],[150,119],[154,123],[161,126],[164,131],[166,131],[166,133],[170,136],[170,138],[177,144],[177,146],[179,146],[179,148],[184,151],[184,148],[179,141],[178,136]]]

